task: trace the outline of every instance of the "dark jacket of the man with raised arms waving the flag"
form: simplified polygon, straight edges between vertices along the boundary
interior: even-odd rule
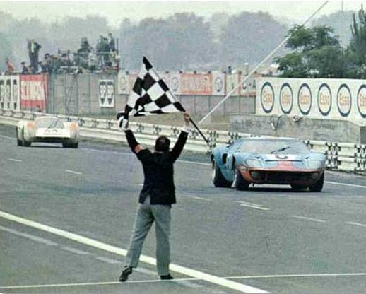
[[[125,131],[127,142],[132,150],[138,145],[134,134],[130,130]],[[143,203],[147,196],[150,196],[150,204],[175,204],[175,185],[173,179],[173,164],[183,150],[187,141],[188,133],[181,131],[172,151],[151,152],[148,149],[141,149],[136,153],[138,160],[143,166],[145,180],[138,199]]]

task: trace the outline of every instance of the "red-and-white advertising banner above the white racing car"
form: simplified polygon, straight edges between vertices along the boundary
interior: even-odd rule
[[[22,110],[45,110],[47,75],[20,75],[20,107]]]

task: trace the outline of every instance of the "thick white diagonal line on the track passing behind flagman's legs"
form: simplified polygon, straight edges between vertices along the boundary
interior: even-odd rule
[[[58,228],[53,228],[49,225],[43,225],[42,223],[37,223],[33,220],[20,218],[19,216],[14,216],[13,214],[6,213],[4,211],[0,211],[0,217],[5,218],[7,220],[12,220],[16,223],[22,223],[23,225],[28,225],[32,228],[37,228],[39,230],[43,230],[45,232],[52,233],[54,235],[59,235],[61,237],[65,237],[67,239],[74,240],[76,242],[80,242],[80,243],[85,244],[85,245],[89,245],[89,246],[92,246],[92,247],[95,247],[95,248],[98,248],[98,249],[102,249],[102,250],[105,250],[107,252],[112,252],[112,253],[119,254],[119,255],[122,255],[122,256],[126,256],[126,254],[127,254],[126,249],[122,249],[122,248],[119,248],[119,247],[115,247],[115,246],[112,246],[112,245],[105,244],[103,242],[99,242],[97,240],[90,239],[88,237],[83,237],[81,235],[70,233],[66,230],[60,230]],[[154,266],[156,265],[156,259],[153,258],[153,257],[148,257],[146,255],[141,255],[140,261],[145,262],[146,264],[152,264]],[[226,288],[237,290],[237,291],[240,291],[242,293],[258,293],[258,294],[269,293],[269,292],[267,292],[265,290],[261,290],[259,288],[244,285],[242,283],[237,283],[237,282],[234,282],[234,281],[229,281],[225,278],[220,278],[218,276],[213,276],[211,274],[206,274],[206,273],[203,273],[202,271],[196,271],[195,269],[189,269],[185,266],[179,266],[177,264],[170,264],[170,269],[172,271],[175,271],[175,272],[179,273],[179,274],[184,274],[186,276],[191,276],[193,278],[199,278],[203,281],[207,281],[207,282],[219,285],[219,286],[223,286],[223,287],[226,287]]]

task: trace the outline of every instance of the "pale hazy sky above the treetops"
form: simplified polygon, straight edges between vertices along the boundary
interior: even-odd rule
[[[193,11],[199,16],[212,13],[233,14],[241,11],[267,11],[277,18],[285,17],[300,23],[317,10],[324,1],[3,1],[0,11],[11,13],[16,18],[37,17],[45,22],[54,22],[64,16],[85,17],[100,14],[107,17],[110,25],[117,26],[122,18],[140,20],[148,16],[166,17],[181,11]],[[362,1],[329,1],[320,11],[329,14],[335,11],[360,9]]]

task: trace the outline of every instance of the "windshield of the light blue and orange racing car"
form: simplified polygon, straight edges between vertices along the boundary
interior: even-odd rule
[[[240,152],[259,153],[259,154],[297,154],[309,153],[307,146],[300,141],[243,141],[239,148]]]

